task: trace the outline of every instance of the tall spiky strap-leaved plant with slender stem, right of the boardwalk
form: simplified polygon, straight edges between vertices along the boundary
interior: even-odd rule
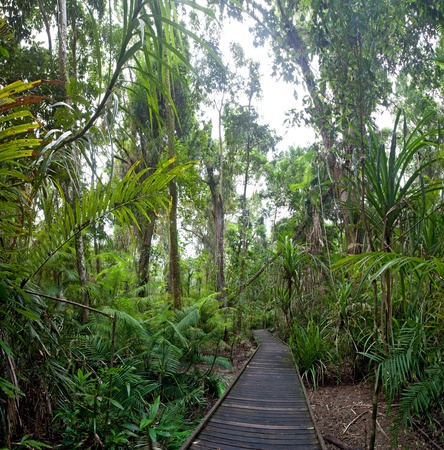
[[[402,229],[406,210],[411,205],[416,205],[416,209],[422,213],[419,221],[423,222],[426,219],[430,194],[442,189],[441,180],[428,180],[425,176],[427,169],[437,164],[439,156],[421,155],[421,152],[437,147],[437,131],[421,133],[421,128],[429,117],[424,118],[411,133],[408,133],[404,121],[402,136],[399,139],[398,124],[401,114],[400,111],[396,116],[388,152],[378,136],[370,132],[368,155],[363,161],[362,171],[350,180],[358,198],[362,199],[362,221],[366,228],[368,245],[372,251],[381,253],[396,251],[399,243],[403,242],[404,234],[397,231]],[[365,255],[366,253],[355,260],[365,258]],[[382,255],[381,257],[383,258]],[[347,258],[343,262],[346,261]],[[383,299],[380,302],[382,322],[379,324],[386,341],[390,339],[393,318],[393,280],[390,268],[387,269],[380,273]],[[376,308],[377,305],[375,318]]]

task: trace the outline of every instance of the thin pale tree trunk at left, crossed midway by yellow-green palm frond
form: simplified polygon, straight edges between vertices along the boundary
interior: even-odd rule
[[[66,0],[58,1],[58,36],[59,36],[59,76],[60,80],[65,83],[68,83],[69,75],[68,75],[68,52],[66,48],[66,44],[68,41],[68,20],[67,20],[67,11],[66,11]],[[73,45],[75,47],[76,40],[74,38]],[[75,72],[75,70],[74,70]],[[65,91],[65,101],[69,105],[71,104],[70,98],[68,97],[67,92]],[[74,174],[73,179],[80,180],[81,178],[81,164],[80,158],[78,154],[77,147],[75,143],[72,147],[73,157],[75,161],[75,170],[78,173]],[[64,183],[64,193],[66,196],[66,201],[71,205],[75,204],[76,199],[80,195],[80,182],[78,185],[75,185],[75,181],[73,184],[66,182]],[[88,274],[86,269],[86,260],[85,260],[85,251],[83,247],[83,238],[82,233],[79,232],[75,236],[74,240],[75,251],[76,251],[76,267],[77,273],[79,276],[80,283],[80,295],[81,295],[81,303],[85,306],[89,306],[89,295],[86,290],[86,286],[88,283]],[[87,308],[83,309],[83,322],[87,322],[89,319],[89,310]]]

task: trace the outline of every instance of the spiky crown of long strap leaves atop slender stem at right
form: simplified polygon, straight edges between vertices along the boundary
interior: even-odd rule
[[[366,220],[373,226],[374,231],[379,231],[377,238],[381,240],[383,250],[387,250],[392,243],[401,213],[410,208],[416,200],[422,202],[421,208],[425,210],[425,195],[443,188],[442,180],[426,182],[423,176],[429,166],[439,162],[437,155],[430,158],[421,158],[420,155],[423,150],[438,147],[435,137],[439,135],[439,130],[422,132],[432,115],[422,119],[411,133],[407,132],[404,120],[400,139],[398,126],[401,115],[402,111],[399,111],[388,150],[373,129],[370,129],[369,138],[364,138],[367,144],[364,193],[361,192],[363,184],[360,178],[355,174],[349,177],[356,195],[360,197],[363,194],[365,197]]]

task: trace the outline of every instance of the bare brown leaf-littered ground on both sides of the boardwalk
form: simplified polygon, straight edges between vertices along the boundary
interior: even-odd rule
[[[230,384],[236,378],[252,352],[253,348],[249,344],[237,346],[231,355],[233,369],[231,371],[217,370],[227,384]],[[339,445],[342,445],[342,449],[366,450],[368,448],[371,429],[371,386],[361,382],[321,386],[316,391],[307,387],[307,395],[317,426],[323,436],[333,438]],[[214,402],[208,405],[208,410]],[[398,446],[391,447],[392,424],[387,420],[386,412],[387,405],[381,401],[377,419],[376,448],[378,450],[389,450],[391,448],[428,450],[437,448],[431,446],[425,435],[426,433],[419,430],[407,433],[401,432]],[[329,450],[341,448],[328,442],[326,442],[326,445]]]

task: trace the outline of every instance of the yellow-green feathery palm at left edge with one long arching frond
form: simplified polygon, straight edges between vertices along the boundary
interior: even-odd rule
[[[6,417],[3,422],[5,436],[9,438],[14,435],[20,420],[19,397],[26,393],[26,389],[19,387],[19,380],[25,377],[25,373],[22,372],[21,377],[18,375],[26,369],[18,367],[15,362],[17,353],[23,349],[13,343],[22,342],[21,339],[17,341],[19,330],[25,329],[29,332],[35,325],[46,325],[46,321],[42,322],[46,306],[39,297],[43,293],[35,285],[36,276],[73,237],[81,234],[90,224],[102,220],[107,214],[112,213],[116,220],[128,224],[128,221],[135,220],[132,208],[138,208],[145,216],[148,210],[165,208],[168,197],[161,191],[169,180],[181,171],[180,167],[168,170],[167,162],[158,168],[152,178],[148,177],[144,183],[138,183],[144,173],[141,171],[135,174],[134,168],[131,168],[123,180],[112,179],[107,184],[98,184],[72,205],[68,201],[63,202],[57,212],[54,211],[51,221],[34,227],[36,216],[31,207],[37,193],[47,189],[47,171],[53,151],[64,137],[62,134],[49,143],[40,137],[34,137],[34,130],[40,125],[32,121],[31,113],[23,105],[41,101],[41,97],[13,96],[38,84],[39,82],[14,83],[1,91],[3,111],[13,111],[2,118],[4,130],[1,132],[0,142],[0,195],[5,216],[5,220],[1,221],[3,271],[0,282],[4,302],[0,342],[5,356],[1,388],[9,398],[5,414],[2,414]],[[31,136],[16,138],[17,135],[29,133]],[[64,199],[60,187],[57,183],[54,184],[56,189],[59,189],[60,198]],[[32,189],[28,188],[29,185]],[[45,197],[42,197],[41,202],[44,205]],[[51,240],[48,240],[48,236],[51,236]],[[34,244],[38,245],[23,245],[25,240],[34,240]],[[27,292],[23,290],[25,288]],[[43,345],[44,353],[50,357],[51,352],[44,346],[40,333],[34,335],[39,336],[37,342]],[[47,336],[50,338],[51,333]],[[27,376],[31,377],[31,373]],[[34,376],[36,373],[32,375]],[[46,386],[49,386],[49,383]],[[45,387],[42,386],[42,392],[44,390]],[[49,404],[48,407],[50,408]]]

